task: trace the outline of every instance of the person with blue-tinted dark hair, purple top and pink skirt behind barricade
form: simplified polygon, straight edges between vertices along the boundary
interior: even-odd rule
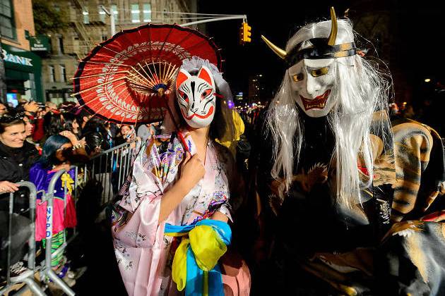
[[[73,179],[76,178],[74,169],[70,170],[72,155],[73,145],[71,144],[71,140],[62,135],[52,135],[42,147],[42,157],[30,169],[30,181],[35,184],[37,191],[47,191],[49,182],[57,171],[65,169],[68,172],[61,175],[61,178],[57,180],[54,187],[52,252],[56,252],[63,244],[65,228],[73,228],[77,223],[76,209],[74,208],[73,198],[71,197],[74,184]],[[40,198],[41,196],[37,196],[35,240],[43,240],[45,245],[47,202],[41,203]],[[61,278],[65,276],[67,271],[67,268],[64,267],[63,259],[63,253],[59,253],[59,255],[51,261],[52,268],[57,270]],[[70,280],[66,281],[70,282]],[[71,281],[71,283],[68,284],[71,285],[73,283]]]

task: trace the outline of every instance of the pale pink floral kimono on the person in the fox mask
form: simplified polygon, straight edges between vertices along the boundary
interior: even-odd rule
[[[196,148],[182,132],[191,154]],[[231,219],[228,178],[233,161],[227,149],[209,141],[204,178],[182,199],[166,221],[158,221],[162,195],[178,178],[184,149],[176,134],[158,135],[141,144],[133,164],[131,182],[121,190],[112,235],[122,279],[129,295],[177,295],[171,280],[172,238],[165,223],[186,225],[208,213],[209,206]],[[121,221],[126,221],[123,223]]]

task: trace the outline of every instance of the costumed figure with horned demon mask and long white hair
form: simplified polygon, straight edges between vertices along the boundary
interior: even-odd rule
[[[287,63],[268,109],[273,148],[261,163],[272,163],[258,190],[270,192],[276,215],[268,285],[286,295],[443,293],[445,228],[420,221],[445,179],[441,152],[439,177],[420,190],[431,130],[391,128],[391,85],[333,8],[285,49],[263,39]]]

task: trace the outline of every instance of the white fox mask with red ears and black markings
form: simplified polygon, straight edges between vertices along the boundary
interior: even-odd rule
[[[198,75],[179,70],[176,79],[176,97],[182,117],[191,128],[204,128],[215,116],[215,81],[206,66]]]

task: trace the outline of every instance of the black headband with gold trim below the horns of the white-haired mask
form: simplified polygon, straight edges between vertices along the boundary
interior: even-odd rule
[[[354,42],[343,43],[338,45],[328,45],[326,38],[309,39],[314,47],[307,49],[299,49],[302,43],[298,44],[287,54],[285,61],[289,67],[295,65],[304,58],[321,59],[321,58],[345,58],[357,54],[357,47]]]

